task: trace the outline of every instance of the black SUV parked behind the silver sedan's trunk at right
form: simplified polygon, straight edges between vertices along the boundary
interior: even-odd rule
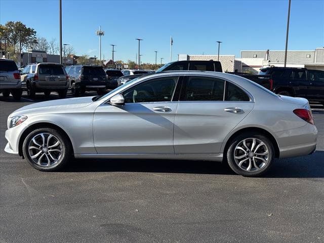
[[[270,75],[278,95],[306,98],[324,105],[324,71],[294,67],[261,68],[259,75]]]

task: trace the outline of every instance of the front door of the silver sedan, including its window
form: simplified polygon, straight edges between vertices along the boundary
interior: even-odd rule
[[[124,91],[125,105],[100,105],[93,136],[98,153],[174,153],[178,76],[145,80]]]

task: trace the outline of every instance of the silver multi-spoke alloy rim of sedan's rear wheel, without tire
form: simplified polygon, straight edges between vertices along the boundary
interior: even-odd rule
[[[241,140],[234,149],[236,165],[247,172],[257,172],[269,162],[269,148],[257,138]]]

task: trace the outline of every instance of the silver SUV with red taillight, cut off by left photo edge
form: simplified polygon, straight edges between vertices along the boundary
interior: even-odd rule
[[[11,93],[15,100],[21,98],[20,73],[11,59],[0,59],[0,93],[4,97],[9,97]]]

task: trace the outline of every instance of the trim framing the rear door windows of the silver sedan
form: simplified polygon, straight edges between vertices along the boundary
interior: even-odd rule
[[[223,100],[181,100],[185,97],[185,90],[187,88],[187,84],[188,84],[188,77],[207,77],[207,78],[213,78],[213,79],[220,79],[224,81],[224,90],[223,90]],[[239,89],[241,89],[242,91],[244,91],[246,93],[246,95],[250,98],[249,101],[228,101],[225,100],[225,96],[226,96],[226,91],[227,91],[227,82],[231,83],[234,86],[237,86]],[[230,103],[247,103],[247,102],[252,102],[254,103],[254,98],[252,96],[252,94],[250,92],[248,92],[246,89],[244,89],[243,87],[235,84],[234,82],[232,82],[231,80],[228,80],[226,78],[223,77],[213,77],[213,76],[206,76],[206,75],[184,75],[183,80],[182,80],[182,86],[181,86],[181,92],[180,92],[180,96],[179,96],[179,102],[191,102],[191,103],[196,103],[196,102],[230,102]]]

